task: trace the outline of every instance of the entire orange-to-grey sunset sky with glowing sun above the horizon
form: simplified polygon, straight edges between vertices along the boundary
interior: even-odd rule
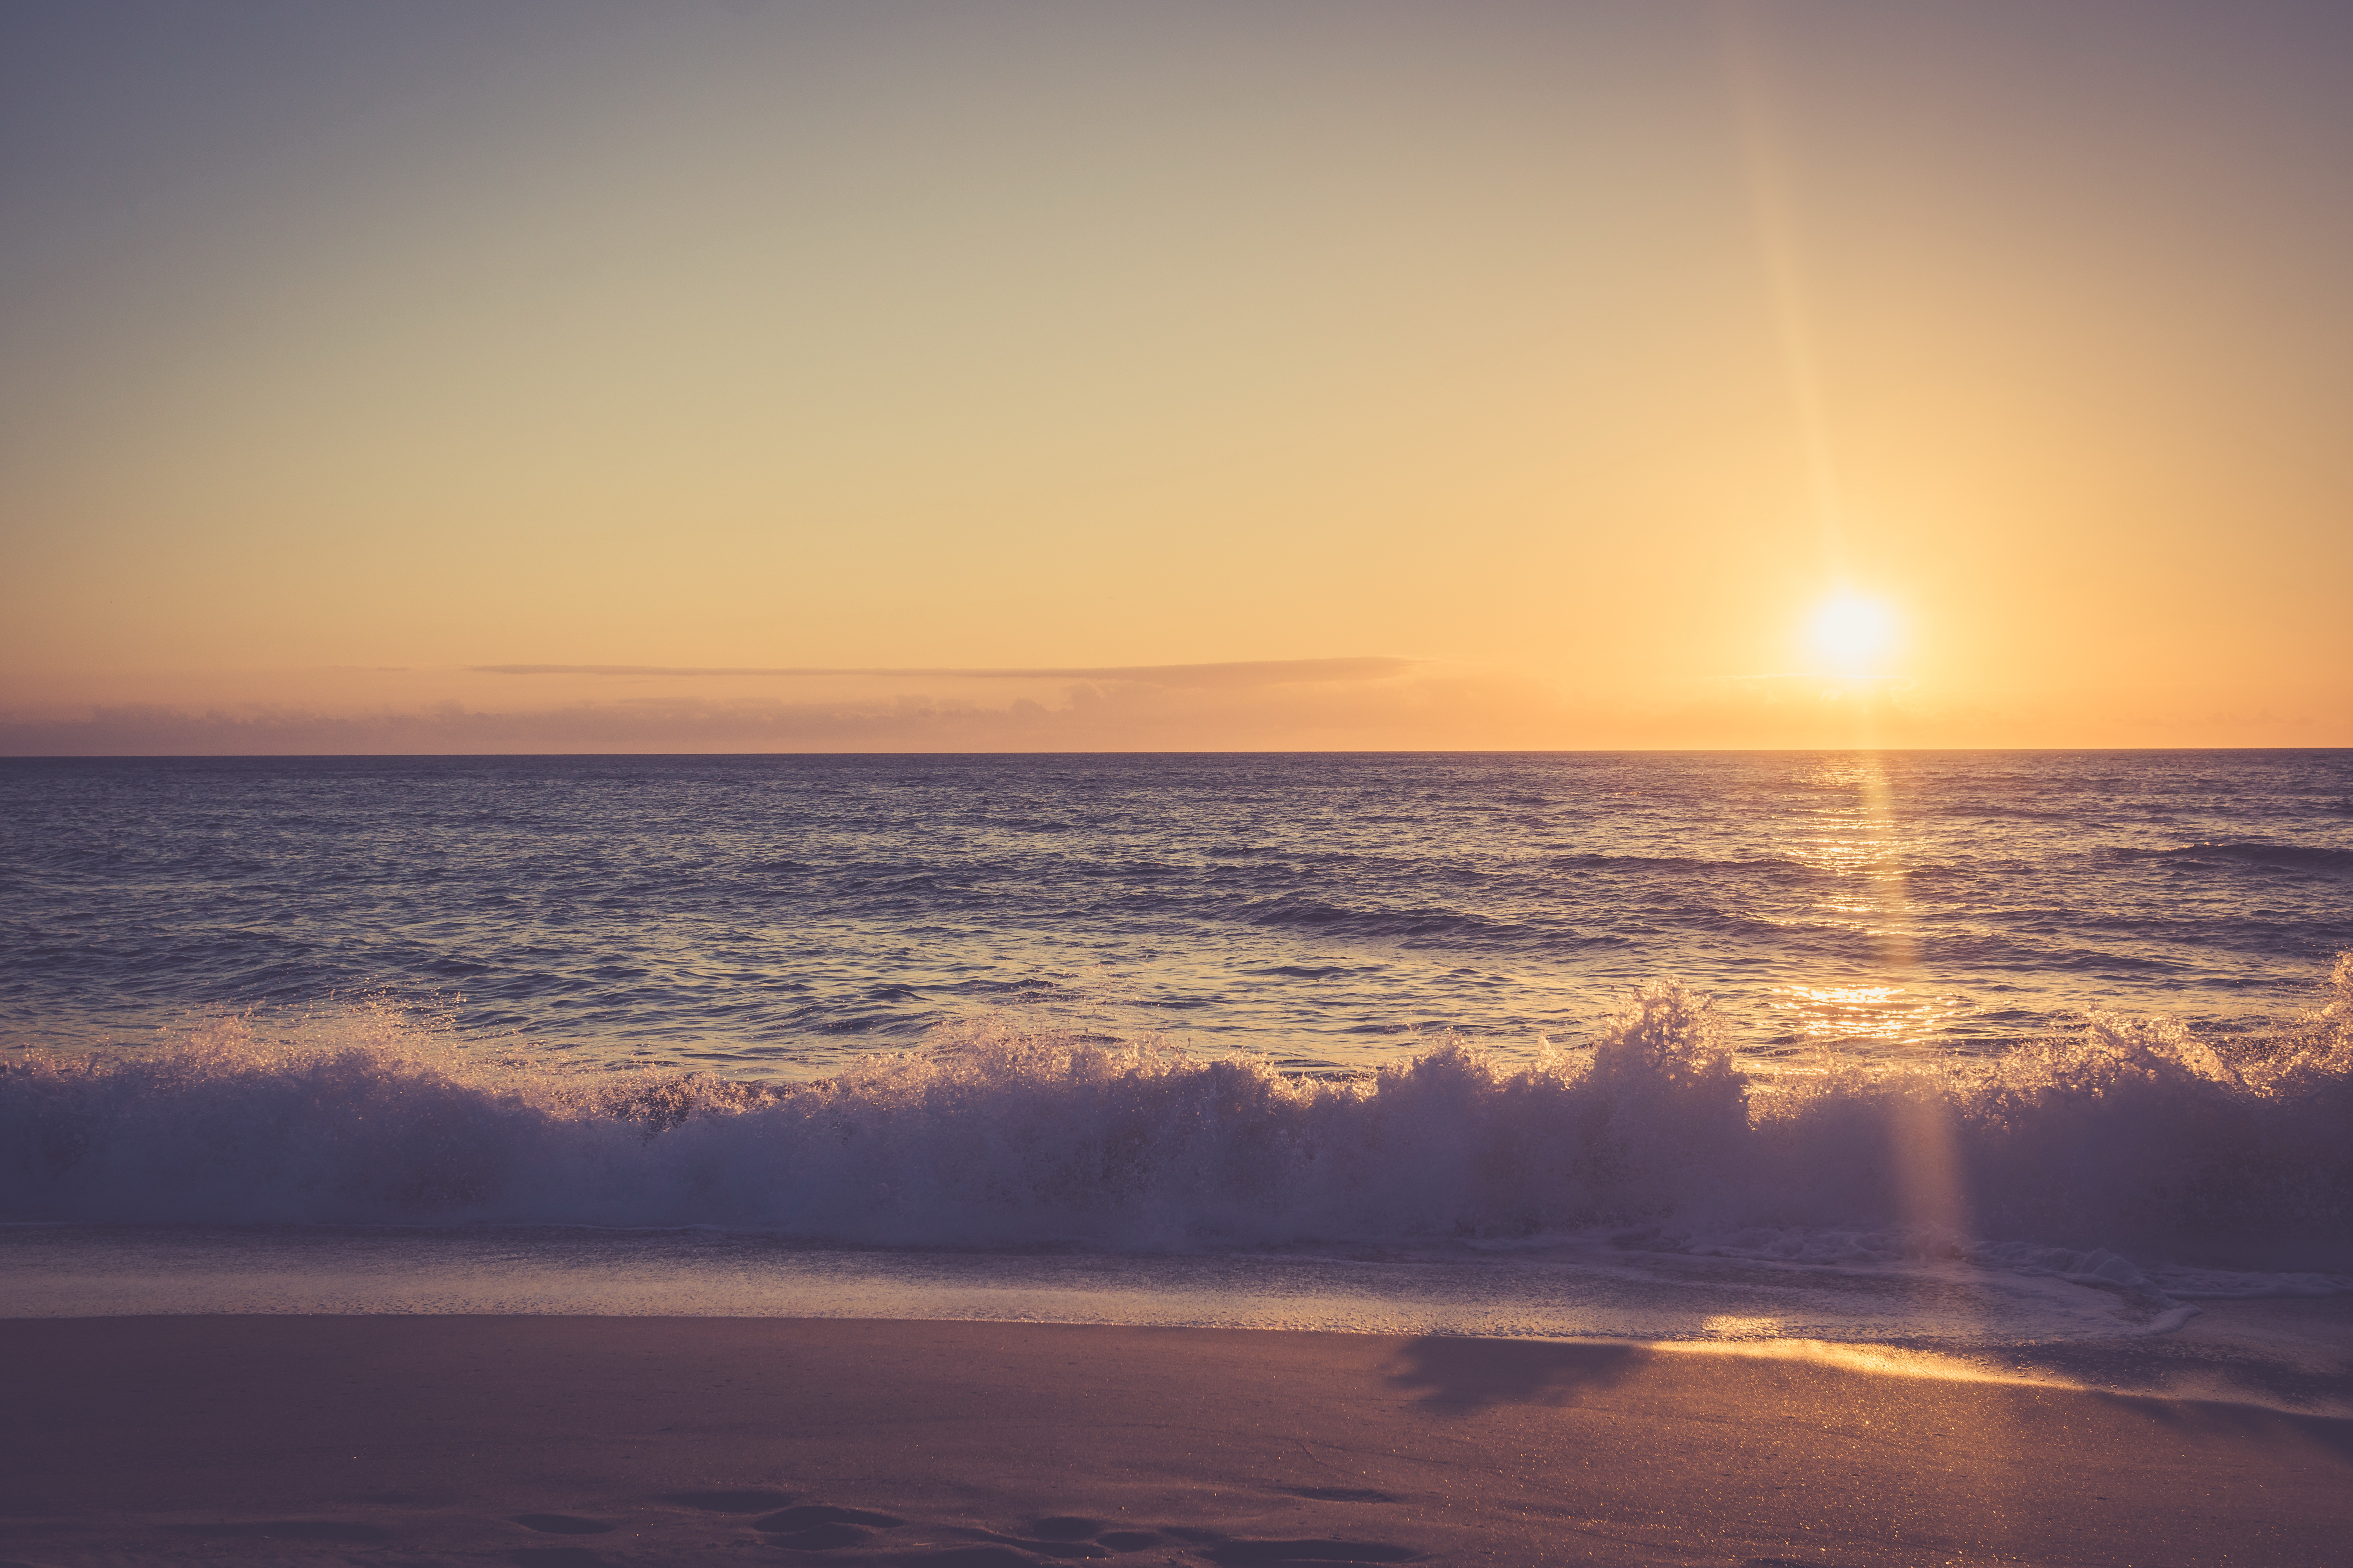
[[[2341,2],[12,5],[0,113],[5,752],[2353,745]]]

